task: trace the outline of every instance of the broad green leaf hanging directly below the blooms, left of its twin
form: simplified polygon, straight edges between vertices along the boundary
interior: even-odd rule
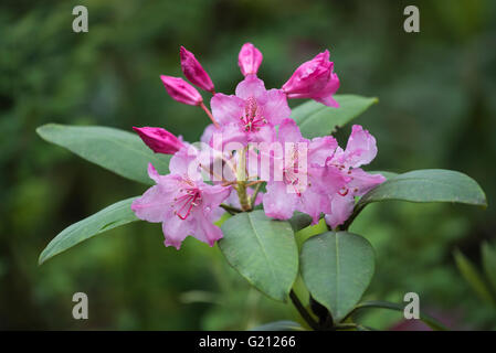
[[[286,301],[298,274],[298,250],[288,222],[263,211],[239,213],[222,224],[219,247],[228,263],[268,297]]]

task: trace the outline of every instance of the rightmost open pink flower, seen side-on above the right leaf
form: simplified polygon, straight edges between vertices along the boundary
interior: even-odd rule
[[[383,183],[381,174],[369,174],[358,168],[370,163],[377,154],[376,139],[359,125],[353,125],[346,150],[337,148],[336,153],[328,160],[328,165],[337,168],[347,183],[330,197],[331,213],[326,214],[326,222],[333,228],[345,223],[355,207],[355,196],[367,192]]]

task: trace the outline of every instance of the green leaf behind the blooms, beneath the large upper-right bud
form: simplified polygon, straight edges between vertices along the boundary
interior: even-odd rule
[[[298,124],[302,135],[308,139],[327,136],[351,121],[378,103],[377,98],[355,95],[336,95],[339,108],[327,107],[310,100],[293,109],[291,117]]]

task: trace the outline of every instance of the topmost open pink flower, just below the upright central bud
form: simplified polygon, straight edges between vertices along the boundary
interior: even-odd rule
[[[263,81],[254,75],[238,85],[235,95],[215,94],[210,105],[221,125],[223,142],[272,141],[274,126],[291,115],[285,94],[281,89],[266,90]]]

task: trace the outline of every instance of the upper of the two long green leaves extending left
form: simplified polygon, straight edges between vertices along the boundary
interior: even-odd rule
[[[170,156],[154,153],[131,132],[98,126],[48,124],[36,129],[44,140],[59,145],[116,174],[145,184],[148,163],[159,173],[169,172]]]

